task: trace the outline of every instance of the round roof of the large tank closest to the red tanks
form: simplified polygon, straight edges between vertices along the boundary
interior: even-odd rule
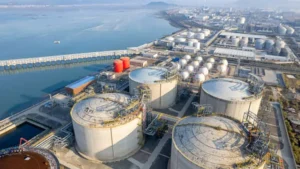
[[[162,67],[146,67],[133,70],[130,72],[129,78],[139,83],[152,84],[164,80],[167,72],[168,70]]]

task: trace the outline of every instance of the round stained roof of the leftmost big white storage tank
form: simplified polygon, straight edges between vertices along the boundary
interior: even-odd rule
[[[73,120],[82,125],[101,125],[113,121],[117,113],[130,104],[131,97],[122,93],[98,94],[76,103],[71,111]]]

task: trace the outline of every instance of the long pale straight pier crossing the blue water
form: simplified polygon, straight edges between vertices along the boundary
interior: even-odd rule
[[[77,53],[56,56],[44,56],[24,59],[0,60],[0,71],[16,70],[33,67],[63,65],[80,62],[90,62],[97,60],[118,59],[122,56],[132,56],[139,54],[136,50],[113,50],[90,53]]]

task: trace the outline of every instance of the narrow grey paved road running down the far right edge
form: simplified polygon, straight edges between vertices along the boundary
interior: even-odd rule
[[[281,141],[283,143],[283,149],[278,151],[277,154],[286,161],[289,169],[296,169],[293,152],[290,147],[290,141],[285,129],[285,123],[284,123],[282,111],[279,107],[280,105],[277,102],[273,102],[272,106],[274,107],[276,116],[278,117],[278,124],[281,131]]]

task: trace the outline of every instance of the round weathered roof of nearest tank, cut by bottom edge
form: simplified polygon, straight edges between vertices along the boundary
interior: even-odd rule
[[[233,168],[253,158],[246,151],[241,125],[221,116],[187,117],[173,129],[173,144],[192,163],[203,168]]]

